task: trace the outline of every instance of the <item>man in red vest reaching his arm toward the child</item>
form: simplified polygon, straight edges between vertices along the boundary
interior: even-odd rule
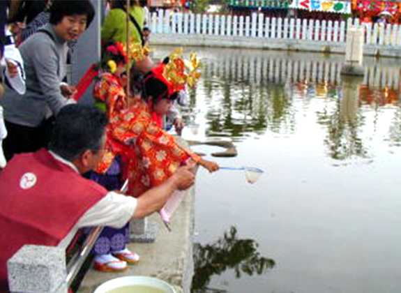
[[[49,151],[15,156],[0,174],[0,292],[8,292],[7,260],[24,244],[66,248],[80,227],[122,227],[158,211],[176,189],[192,186],[190,166],[139,198],[109,192],[81,174],[98,165],[105,114],[68,105],[57,116]]]

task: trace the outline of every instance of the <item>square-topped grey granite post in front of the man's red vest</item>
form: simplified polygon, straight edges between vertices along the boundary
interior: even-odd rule
[[[66,251],[25,245],[7,262],[10,292],[67,293]]]

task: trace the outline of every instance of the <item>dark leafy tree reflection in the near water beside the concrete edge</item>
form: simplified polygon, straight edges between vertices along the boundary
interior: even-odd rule
[[[262,257],[258,244],[252,239],[239,239],[236,227],[232,226],[222,238],[212,244],[195,244],[195,275],[192,292],[225,292],[208,288],[212,276],[234,270],[236,278],[261,275],[275,266],[274,260]]]

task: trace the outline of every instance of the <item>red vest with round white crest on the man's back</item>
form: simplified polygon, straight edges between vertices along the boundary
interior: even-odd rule
[[[107,194],[44,149],[14,156],[0,173],[0,292],[7,260],[24,244],[56,246]]]

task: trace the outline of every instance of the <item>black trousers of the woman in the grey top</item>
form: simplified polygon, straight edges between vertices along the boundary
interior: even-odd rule
[[[53,127],[53,119],[42,123],[38,127],[22,126],[4,121],[7,128],[7,137],[3,140],[3,151],[6,160],[13,158],[15,153],[31,153],[47,147]]]

